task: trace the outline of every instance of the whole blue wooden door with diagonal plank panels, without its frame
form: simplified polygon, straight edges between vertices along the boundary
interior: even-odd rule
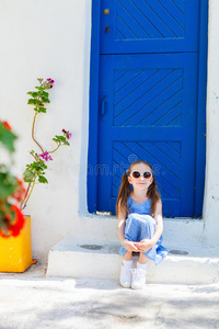
[[[164,216],[194,216],[199,0],[103,0],[96,209],[124,171],[151,163]]]

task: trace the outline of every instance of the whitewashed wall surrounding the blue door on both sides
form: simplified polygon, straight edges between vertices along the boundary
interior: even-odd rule
[[[207,168],[203,220],[165,220],[166,239],[216,245],[219,235],[219,3],[210,0],[207,102]],[[36,78],[55,79],[36,138],[44,148],[62,128],[72,132],[49,163],[48,185],[37,185],[25,213],[32,215],[33,254],[47,256],[61,238],[117,239],[116,220],[87,214],[91,0],[0,0],[0,116],[20,136],[15,171],[32,160],[32,106],[26,92]]]

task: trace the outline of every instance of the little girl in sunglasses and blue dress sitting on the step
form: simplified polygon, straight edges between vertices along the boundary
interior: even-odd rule
[[[132,191],[130,189],[132,185]],[[136,161],[124,173],[116,203],[118,236],[124,256],[119,282],[123,287],[142,288],[146,283],[147,258],[159,264],[168,254],[162,242],[162,203],[151,166]],[[132,252],[139,252],[132,270]]]

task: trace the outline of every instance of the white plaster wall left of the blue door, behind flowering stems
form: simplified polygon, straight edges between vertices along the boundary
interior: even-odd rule
[[[74,231],[79,184],[85,186],[88,136],[82,132],[88,129],[90,15],[90,0],[0,0],[0,117],[20,137],[15,172],[21,175],[32,161],[28,150],[38,151],[31,139],[34,111],[26,104],[36,78],[56,81],[47,114],[37,118],[39,144],[54,149],[55,134],[62,128],[72,133],[71,146],[49,163],[49,184],[36,185],[25,209],[32,215],[35,257]]]

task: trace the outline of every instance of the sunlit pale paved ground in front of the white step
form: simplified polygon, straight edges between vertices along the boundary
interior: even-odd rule
[[[45,277],[45,268],[0,273],[0,329],[219,328],[219,283],[132,291],[115,281]]]

